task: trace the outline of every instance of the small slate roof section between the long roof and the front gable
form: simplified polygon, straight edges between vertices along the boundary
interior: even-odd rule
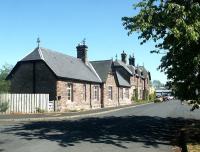
[[[112,71],[112,60],[91,61],[95,71],[101,78],[102,82],[106,82],[108,73]]]

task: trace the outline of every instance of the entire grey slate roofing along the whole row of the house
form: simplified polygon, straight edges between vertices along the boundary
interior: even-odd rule
[[[141,72],[143,72],[145,78],[147,76],[150,77],[150,73],[143,66],[134,67],[132,65],[126,65],[120,60],[113,62],[112,59],[91,61],[86,62],[85,64],[81,59],[41,47],[35,48],[30,54],[19,61],[17,65],[26,61],[37,60],[44,61],[58,78],[105,83],[108,73],[112,72],[114,68],[113,72],[115,72],[118,85],[130,87],[130,83],[122,76],[123,73],[117,71],[118,67],[125,69],[130,76],[141,76]],[[7,79],[12,75],[12,72],[16,69],[17,65],[8,75]]]

